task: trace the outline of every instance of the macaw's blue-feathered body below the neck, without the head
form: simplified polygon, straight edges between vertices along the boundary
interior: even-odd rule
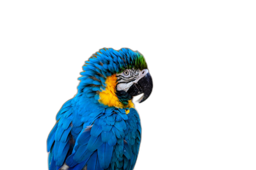
[[[79,96],[80,98],[83,96]],[[49,169],[133,169],[141,140],[138,112],[71,99],[47,139]],[[67,167],[68,166],[68,167]]]

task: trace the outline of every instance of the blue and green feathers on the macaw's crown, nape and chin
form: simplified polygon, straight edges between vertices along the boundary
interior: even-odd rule
[[[99,92],[106,89],[106,78],[115,73],[120,73],[125,69],[146,69],[147,62],[143,55],[139,52],[134,52],[129,48],[122,48],[119,51],[112,48],[101,49],[97,55],[91,57],[89,61],[83,66],[84,72],[81,73],[82,77],[78,78],[79,83],[78,94],[86,92],[86,96],[95,99],[97,103],[99,99]],[[131,96],[128,94],[116,94],[120,96],[120,102],[127,103]]]

